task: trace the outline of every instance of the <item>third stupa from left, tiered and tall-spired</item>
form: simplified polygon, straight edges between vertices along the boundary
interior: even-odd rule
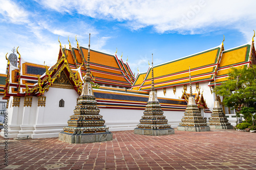
[[[189,67],[189,88],[190,94],[188,98],[188,103],[186,111],[183,118],[181,119],[180,125],[177,127],[179,131],[194,131],[194,132],[204,132],[210,131],[210,127],[207,126],[206,118],[201,116],[201,113],[197,107],[195,98],[192,94],[191,87],[191,76],[190,76],[190,67]]]

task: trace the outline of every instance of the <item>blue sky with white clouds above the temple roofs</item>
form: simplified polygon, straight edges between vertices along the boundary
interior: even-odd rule
[[[256,1],[9,1],[0,0],[0,73],[6,53],[19,46],[27,61],[51,66],[59,40],[76,47],[123,53],[133,72],[205,51],[249,42],[256,30]],[[8,56],[9,56],[8,54]],[[92,56],[93,57],[93,56]]]

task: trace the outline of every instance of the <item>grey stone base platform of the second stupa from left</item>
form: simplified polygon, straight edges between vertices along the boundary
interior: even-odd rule
[[[174,134],[174,129],[141,129],[141,128],[135,128],[134,134],[139,135],[152,135],[152,136],[160,136],[160,135],[171,135]]]

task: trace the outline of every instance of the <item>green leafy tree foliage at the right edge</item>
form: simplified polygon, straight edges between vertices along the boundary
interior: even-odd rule
[[[256,108],[256,66],[232,67],[228,75],[228,80],[215,90],[224,97],[223,104],[234,109]]]

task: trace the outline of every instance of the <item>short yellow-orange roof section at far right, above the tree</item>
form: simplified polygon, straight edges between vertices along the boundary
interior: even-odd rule
[[[223,51],[220,65],[216,75],[216,84],[222,84],[228,80],[228,72],[230,67],[243,67],[255,63],[255,50],[252,41],[247,44],[234,47]],[[214,85],[214,80],[210,82],[210,86]]]

